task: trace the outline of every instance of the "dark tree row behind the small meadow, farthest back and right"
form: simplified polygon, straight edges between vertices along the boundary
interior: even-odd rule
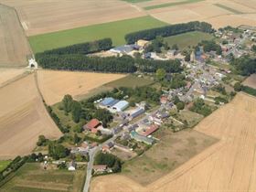
[[[125,40],[128,44],[133,44],[139,39],[153,40],[157,36],[170,37],[178,34],[186,33],[189,31],[202,31],[211,33],[213,29],[210,24],[205,22],[189,22],[187,24],[176,24],[166,27],[158,27],[152,29],[146,29],[142,31],[133,32],[125,36]]]

